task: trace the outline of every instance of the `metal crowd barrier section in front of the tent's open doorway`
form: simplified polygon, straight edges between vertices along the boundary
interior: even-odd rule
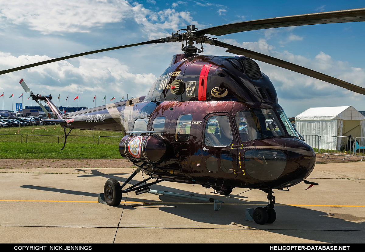
[[[349,156],[354,156],[354,138],[353,137],[340,137],[332,135],[321,135],[319,137],[319,153],[324,154],[323,157],[328,157],[328,154],[346,156],[343,158],[350,159]],[[351,159],[350,159],[351,160]]]

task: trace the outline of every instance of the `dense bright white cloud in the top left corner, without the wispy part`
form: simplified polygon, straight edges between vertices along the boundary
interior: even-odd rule
[[[43,34],[87,32],[88,28],[115,23],[131,15],[123,0],[1,1],[3,22],[26,25]]]

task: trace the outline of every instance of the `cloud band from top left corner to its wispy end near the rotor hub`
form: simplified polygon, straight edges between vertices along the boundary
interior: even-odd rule
[[[189,12],[164,9],[153,12],[137,2],[130,4],[125,0],[80,0],[72,1],[4,1],[0,0],[0,24],[3,26],[26,26],[42,34],[64,34],[90,32],[91,28],[105,24],[126,22],[141,25],[148,37],[166,36],[165,29],[179,30],[180,26],[193,22]],[[177,1],[177,4],[186,4]],[[130,27],[132,23],[128,23]],[[178,29],[177,29],[178,28]]]

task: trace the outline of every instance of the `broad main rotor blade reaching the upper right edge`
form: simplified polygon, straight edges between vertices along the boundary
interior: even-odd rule
[[[295,16],[283,16],[278,18],[265,18],[251,21],[243,21],[205,28],[196,31],[195,33],[220,36],[231,33],[239,33],[241,31],[253,31],[268,28],[358,21],[365,21],[365,8],[344,9],[342,11],[328,11]]]

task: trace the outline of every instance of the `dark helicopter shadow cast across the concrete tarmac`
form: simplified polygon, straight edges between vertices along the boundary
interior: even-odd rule
[[[81,175],[78,177],[103,176],[108,179],[115,178],[120,183],[123,183],[126,179],[119,176],[128,175],[126,173],[105,174],[95,169],[92,170],[92,173],[92,175]],[[139,181],[132,180],[131,184],[135,184],[137,182]],[[91,192],[73,191],[32,185],[23,185],[20,187],[33,190],[53,191],[65,194],[92,196],[96,198],[98,197],[98,194]],[[151,189],[177,192],[182,194],[192,193],[191,191],[178,190],[175,188],[162,186],[161,184],[153,185],[151,186]],[[207,192],[208,191],[210,192],[212,191],[212,189],[207,189]],[[124,208],[126,210],[136,210],[141,207],[154,209],[158,208],[164,213],[190,219],[195,222],[214,225],[236,226],[235,228],[237,229],[260,229],[272,233],[283,234],[286,236],[298,237],[326,243],[363,243],[365,240],[365,218],[356,216],[354,214],[326,213],[323,211],[306,209],[304,207],[278,205],[280,204],[280,202],[276,202],[276,221],[273,224],[258,225],[255,222],[245,221],[245,209],[256,208],[260,205],[264,207],[267,205],[267,202],[247,201],[245,200],[245,198],[247,197],[242,195],[230,195],[228,197],[224,197],[221,195],[215,196],[194,193],[194,195],[196,196],[213,197],[226,202],[226,205],[224,205],[223,203],[219,211],[215,211],[213,203],[181,204],[180,202],[200,203],[202,201],[188,198],[177,198],[167,195],[156,195],[161,203],[156,203],[155,200],[143,199],[145,203],[123,205],[125,201],[140,202],[142,200],[141,198],[132,197],[132,195],[134,195],[134,193],[132,193],[133,192],[130,192],[128,195],[123,194],[121,205],[119,205],[118,208]],[[168,206],[161,206],[164,205],[164,202],[168,203]],[[331,207],[330,211],[334,212],[339,209],[338,211],[341,212],[342,208],[343,207]],[[349,212],[351,213],[350,210]],[[159,221],[163,222],[164,220],[160,219]],[[222,227],[220,226],[218,228],[221,229]],[[320,233],[322,235],[319,235]]]

